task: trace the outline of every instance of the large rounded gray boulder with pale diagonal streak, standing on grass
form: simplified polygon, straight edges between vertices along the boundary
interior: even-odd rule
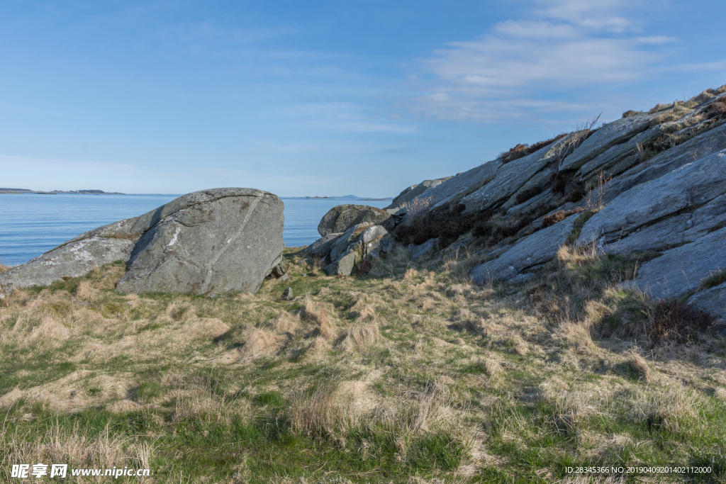
[[[284,270],[282,210],[280,198],[256,189],[184,195],[153,212],[116,290],[256,292],[272,271]]]

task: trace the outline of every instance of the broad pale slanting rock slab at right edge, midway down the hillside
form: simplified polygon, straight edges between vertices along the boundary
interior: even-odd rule
[[[634,186],[585,223],[578,243],[627,236],[640,226],[709,202],[726,191],[726,149]]]

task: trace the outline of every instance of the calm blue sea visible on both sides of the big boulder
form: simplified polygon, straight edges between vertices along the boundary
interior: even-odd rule
[[[0,263],[15,266],[107,223],[147,213],[179,195],[0,194]],[[383,208],[390,200],[282,198],[285,246],[310,245],[322,216],[346,203]]]

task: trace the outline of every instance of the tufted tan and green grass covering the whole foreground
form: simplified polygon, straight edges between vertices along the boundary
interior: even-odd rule
[[[160,483],[549,482],[626,464],[726,479],[724,340],[648,340],[655,306],[616,288],[636,258],[563,249],[513,292],[470,284],[476,259],[429,271],[396,250],[337,279],[287,257],[289,281],[257,295],[121,296],[121,264],[16,293],[0,307],[0,481],[22,462]]]

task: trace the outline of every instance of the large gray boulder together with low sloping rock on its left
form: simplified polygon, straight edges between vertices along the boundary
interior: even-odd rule
[[[255,292],[285,274],[282,201],[256,189],[224,188],[179,197],[142,216],[71,239],[0,274],[4,290],[43,286],[126,261],[119,292]]]

